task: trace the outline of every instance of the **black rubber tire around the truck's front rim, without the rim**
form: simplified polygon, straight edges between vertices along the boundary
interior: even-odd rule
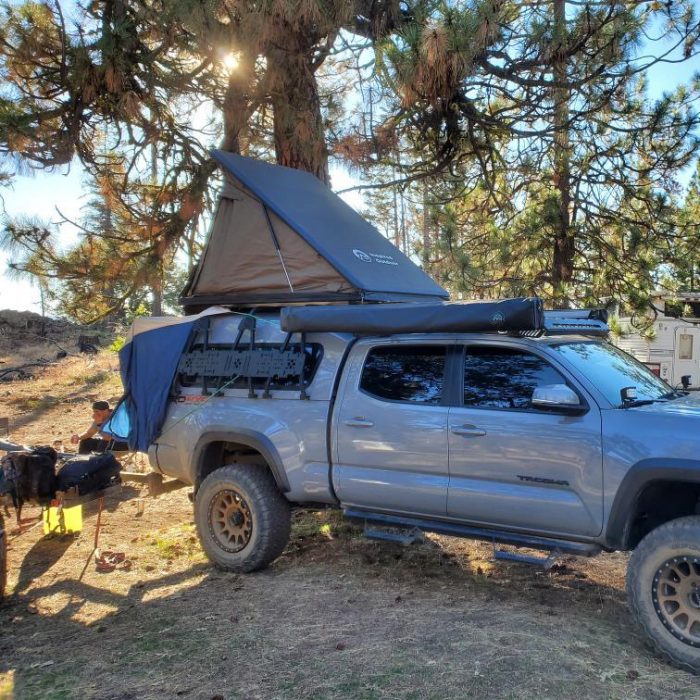
[[[657,578],[669,562],[695,558],[700,561],[700,517],[678,518],[660,525],[632,553],[627,569],[627,595],[632,613],[653,648],[674,666],[700,674],[700,644],[693,646],[674,636],[668,623],[662,621]],[[700,566],[691,563],[687,570],[693,578],[692,572],[697,572],[700,580]]]

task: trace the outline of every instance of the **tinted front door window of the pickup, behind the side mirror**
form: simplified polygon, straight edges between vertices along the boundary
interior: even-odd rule
[[[464,405],[475,408],[529,408],[535,387],[566,384],[537,355],[510,348],[475,345],[464,357]]]

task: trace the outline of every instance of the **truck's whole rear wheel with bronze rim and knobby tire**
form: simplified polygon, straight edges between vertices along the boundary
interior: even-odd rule
[[[289,541],[289,501],[264,467],[235,464],[217,469],[199,487],[194,508],[206,555],[227,571],[262,569]]]

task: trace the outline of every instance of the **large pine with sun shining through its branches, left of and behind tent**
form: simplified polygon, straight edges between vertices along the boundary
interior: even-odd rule
[[[215,184],[211,143],[271,151],[327,182],[332,110],[321,103],[317,72],[341,29],[374,41],[402,16],[398,0],[98,0],[74,11],[75,25],[60,0],[4,5],[0,153],[35,167],[79,158],[126,212],[132,230],[122,245],[139,241],[127,252],[128,279],[149,285],[156,306],[167,261],[183,244],[190,258],[196,253]],[[214,112],[208,122],[204,105]],[[46,254],[29,233],[25,242]],[[93,246],[89,269],[117,271],[96,263],[100,251],[111,256],[111,244]]]

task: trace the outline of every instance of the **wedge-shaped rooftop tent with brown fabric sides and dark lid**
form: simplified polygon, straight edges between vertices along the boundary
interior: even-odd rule
[[[438,301],[447,292],[320,180],[214,151],[226,180],[181,299],[211,304]]]

